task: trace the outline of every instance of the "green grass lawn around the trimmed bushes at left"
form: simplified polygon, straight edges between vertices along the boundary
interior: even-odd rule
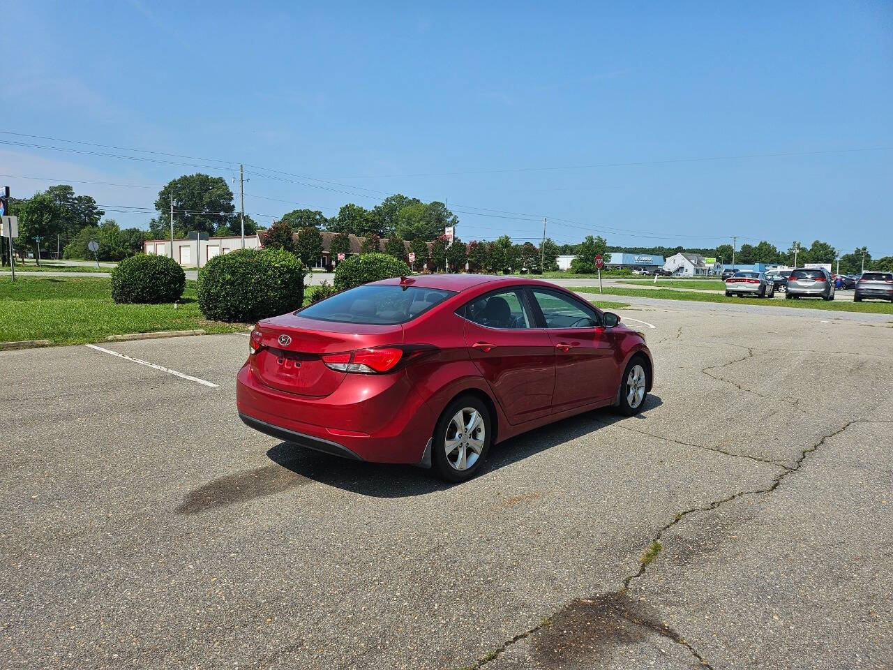
[[[115,305],[112,280],[105,277],[0,278],[0,342],[49,339],[53,344],[103,341],[131,332],[232,332],[242,323],[208,321],[198,311],[196,282],[187,281],[173,305]]]

